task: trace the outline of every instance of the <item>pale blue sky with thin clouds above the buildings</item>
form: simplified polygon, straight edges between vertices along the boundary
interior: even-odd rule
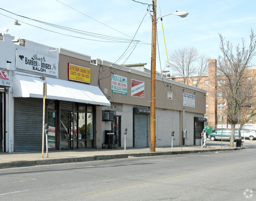
[[[4,27],[8,27],[8,34],[15,37],[71,50],[91,56],[92,59],[103,59],[119,65],[146,63],[145,68],[151,69],[152,12],[147,10],[152,10],[152,6],[149,7],[152,1],[136,1],[1,1],[0,32],[3,32]],[[166,49],[169,55],[174,50],[194,47],[200,54],[217,59],[218,55],[221,55],[219,34],[232,42],[234,47],[241,44],[244,38],[245,46],[248,47],[251,29],[256,32],[255,0],[157,0],[156,5],[157,17],[176,11],[189,13],[185,18],[168,15],[163,17],[162,22],[158,19],[157,71],[166,68]],[[17,19],[21,26],[14,25],[14,19]],[[31,19],[66,27],[69,30],[72,28],[73,31]],[[74,29],[98,37],[81,35],[74,32]],[[105,38],[102,38],[103,36]],[[110,36],[116,38],[107,40]],[[133,38],[139,42],[130,43]],[[169,70],[171,73],[171,69]]]

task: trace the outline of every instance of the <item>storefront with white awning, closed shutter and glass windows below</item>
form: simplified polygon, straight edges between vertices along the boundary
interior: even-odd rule
[[[14,73],[14,151],[41,150],[44,82],[49,150],[95,148],[95,111],[110,105],[97,86]]]

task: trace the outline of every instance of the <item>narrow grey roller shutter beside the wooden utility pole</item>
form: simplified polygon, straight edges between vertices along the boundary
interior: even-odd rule
[[[148,115],[134,114],[134,147],[148,146]]]

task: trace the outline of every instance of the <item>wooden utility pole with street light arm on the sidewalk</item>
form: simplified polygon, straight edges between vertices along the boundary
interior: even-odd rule
[[[178,15],[186,17],[189,13],[185,11],[169,13],[167,15]],[[167,16],[163,15],[161,17]],[[150,97],[150,151],[155,152],[155,76],[156,76],[156,0],[153,0],[153,14],[152,14],[152,51],[151,51],[151,97]]]

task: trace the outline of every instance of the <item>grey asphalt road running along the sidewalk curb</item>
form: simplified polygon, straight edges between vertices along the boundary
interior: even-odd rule
[[[3,169],[0,200],[256,200],[256,143],[244,146]]]

